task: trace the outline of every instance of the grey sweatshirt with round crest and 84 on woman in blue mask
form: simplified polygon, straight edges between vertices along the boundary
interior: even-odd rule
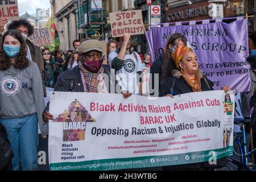
[[[0,70],[0,118],[22,118],[37,114],[42,137],[48,134],[48,123],[43,122],[44,94],[38,65],[30,61],[25,69],[11,65]]]

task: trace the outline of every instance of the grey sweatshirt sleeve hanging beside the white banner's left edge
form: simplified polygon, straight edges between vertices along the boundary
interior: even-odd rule
[[[40,71],[38,65],[35,63],[32,64],[32,92],[36,107],[36,114],[38,115],[39,128],[42,134],[42,137],[45,138],[48,134],[48,123],[43,121],[43,111],[45,107],[44,94],[43,94],[43,84],[42,77],[40,76]]]

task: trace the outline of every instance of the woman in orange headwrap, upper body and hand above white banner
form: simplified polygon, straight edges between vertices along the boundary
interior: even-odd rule
[[[213,90],[213,82],[203,76],[203,71],[199,70],[197,56],[191,48],[180,46],[175,49],[172,60],[177,69],[172,70],[172,76],[162,82],[160,96]],[[222,90],[228,92],[230,88],[223,86]]]

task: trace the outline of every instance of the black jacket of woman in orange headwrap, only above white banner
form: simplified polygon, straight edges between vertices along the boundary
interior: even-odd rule
[[[175,85],[173,85],[174,80],[175,80]],[[207,80],[208,84],[205,80]],[[193,89],[191,88],[191,86],[188,85],[187,81],[185,81],[183,77],[180,77],[180,78],[168,77],[162,82],[160,88],[161,88],[160,94],[159,94],[160,97],[166,96],[167,94],[171,94],[171,88],[173,89],[173,94],[172,94],[173,96],[193,92]],[[203,91],[214,90],[213,82],[208,80],[207,77],[201,78],[201,89]]]

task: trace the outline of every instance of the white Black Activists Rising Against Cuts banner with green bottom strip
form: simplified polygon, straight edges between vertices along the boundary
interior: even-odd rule
[[[233,91],[157,100],[53,92],[49,112],[55,118],[49,121],[51,171],[173,166],[233,155]]]

